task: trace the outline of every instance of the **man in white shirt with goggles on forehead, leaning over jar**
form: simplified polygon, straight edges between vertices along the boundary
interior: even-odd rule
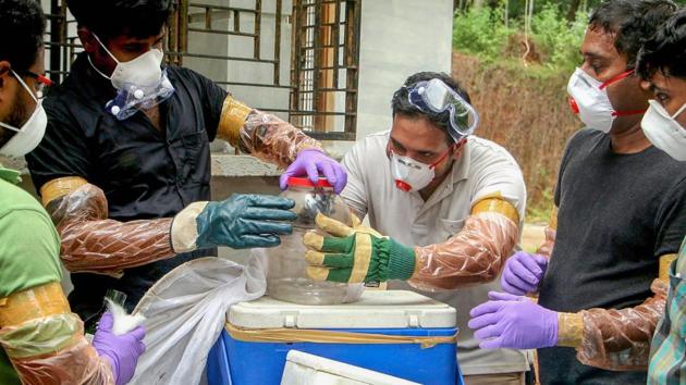
[[[471,135],[478,114],[445,74],[411,76],[392,108],[392,128],[369,135],[343,160],[342,197],[372,228],[318,218],[332,236],[305,236],[308,273],[338,282],[394,280],[391,288],[428,291],[457,309],[466,384],[522,384],[525,353],[481,350],[467,328],[468,310],[500,288],[495,278],[517,248],[522,171],[504,148]]]

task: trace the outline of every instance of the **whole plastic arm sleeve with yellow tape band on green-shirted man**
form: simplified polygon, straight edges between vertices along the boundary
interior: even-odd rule
[[[109,362],[86,341],[59,283],[0,301],[0,345],[22,383],[114,384]]]

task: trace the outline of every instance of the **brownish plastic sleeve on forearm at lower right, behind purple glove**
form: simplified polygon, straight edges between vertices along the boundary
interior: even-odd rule
[[[669,285],[654,280],[654,294],[641,305],[621,310],[581,311],[584,333],[577,347],[579,362],[613,371],[645,371],[648,368],[650,341],[664,313]]]

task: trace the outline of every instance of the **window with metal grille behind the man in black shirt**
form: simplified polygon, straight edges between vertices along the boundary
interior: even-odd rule
[[[176,0],[167,61],[225,85],[313,137],[354,140],[362,0]],[[64,0],[51,0],[47,71],[64,79],[81,51]],[[285,48],[285,49],[284,49]]]

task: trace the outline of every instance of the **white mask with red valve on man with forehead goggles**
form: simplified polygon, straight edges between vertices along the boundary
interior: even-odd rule
[[[451,149],[431,164],[417,162],[409,157],[401,157],[391,151],[391,172],[395,187],[405,192],[418,191],[427,187],[436,177],[436,166],[448,158]]]

